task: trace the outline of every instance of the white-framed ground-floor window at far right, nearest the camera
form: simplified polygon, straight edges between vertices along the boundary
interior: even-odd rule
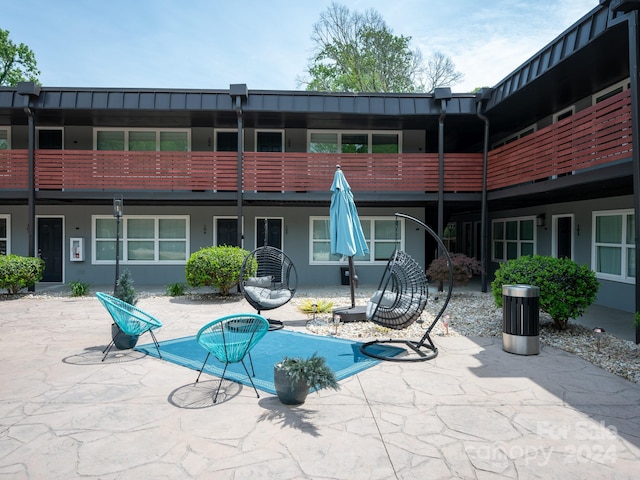
[[[596,277],[635,283],[636,237],[633,210],[592,214],[591,269]]]

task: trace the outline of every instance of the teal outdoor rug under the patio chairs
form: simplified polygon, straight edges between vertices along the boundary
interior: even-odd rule
[[[168,362],[176,363],[184,367],[199,371],[202,368],[207,356],[207,351],[202,348],[196,337],[176,338],[166,340],[160,343],[160,352],[162,359]],[[360,352],[360,342],[346,340],[342,338],[325,337],[322,335],[309,335],[306,333],[292,332],[289,330],[274,330],[267,332],[262,340],[251,350],[251,358],[256,376],[252,377],[256,388],[268,393],[275,394],[273,386],[273,365],[283,357],[302,357],[307,358],[318,353],[325,357],[327,365],[329,365],[336,373],[338,380],[342,380],[369,367],[372,367],[380,360],[368,357]],[[404,352],[403,349],[390,347],[388,345],[376,345],[380,353],[388,356],[398,355]],[[154,357],[158,357],[158,351],[153,343],[139,345],[135,348],[140,352],[146,353]],[[245,365],[251,373],[251,365],[249,358],[245,358]],[[213,355],[209,357],[205,373],[216,377],[222,376],[224,363],[219,362]],[[234,380],[244,385],[251,386],[247,375],[240,363],[232,363],[227,368],[225,378]],[[196,374],[193,381],[195,382]]]

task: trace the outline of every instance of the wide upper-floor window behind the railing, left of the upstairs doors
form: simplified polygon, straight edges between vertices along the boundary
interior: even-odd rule
[[[188,129],[95,128],[93,149],[189,152],[191,151],[191,131]]]

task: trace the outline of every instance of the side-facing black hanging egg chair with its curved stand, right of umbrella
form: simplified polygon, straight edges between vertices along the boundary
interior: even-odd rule
[[[438,235],[425,223],[402,213],[396,213],[398,218],[405,218],[417,223],[424,228],[437,242],[446,256],[449,265],[449,289],[442,308],[435,316],[433,322],[427,327],[422,338],[418,341],[407,339],[374,340],[363,343],[360,351],[369,357],[393,362],[422,362],[431,360],[438,355],[438,348],[431,339],[431,331],[444,313],[453,290],[453,265],[449,252]],[[397,230],[397,229],[396,229]],[[382,275],[376,293],[371,297],[367,305],[367,319],[373,323],[394,330],[407,328],[415,321],[419,321],[420,315],[427,305],[428,280],[425,270],[407,253],[396,250]],[[406,347],[408,355],[394,355],[380,353],[383,350],[375,348],[380,344],[398,344]]]

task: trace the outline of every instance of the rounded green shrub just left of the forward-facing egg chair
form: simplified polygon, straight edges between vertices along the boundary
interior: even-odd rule
[[[191,254],[185,267],[191,287],[214,287],[228,295],[238,285],[242,262],[249,255],[240,247],[205,247]]]

